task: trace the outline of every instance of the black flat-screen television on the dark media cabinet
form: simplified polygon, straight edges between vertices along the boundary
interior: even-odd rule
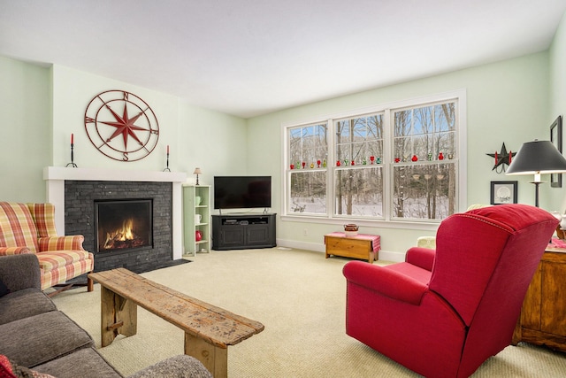
[[[214,176],[215,209],[272,207],[272,176]]]

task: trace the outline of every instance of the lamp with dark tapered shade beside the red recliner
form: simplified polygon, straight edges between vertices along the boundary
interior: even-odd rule
[[[534,174],[535,206],[539,207],[540,174],[566,172],[566,158],[550,141],[524,143],[516,153],[506,174]]]

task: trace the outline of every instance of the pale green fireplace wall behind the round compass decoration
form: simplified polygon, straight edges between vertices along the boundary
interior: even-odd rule
[[[166,146],[169,166],[187,173],[200,166],[202,184],[214,174],[247,170],[246,120],[186,104],[175,96],[114,81],[65,66],[42,67],[0,57],[0,200],[42,202],[46,199],[42,170],[71,161],[70,135],[74,134],[74,162],[81,168],[162,171]],[[90,143],[84,127],[85,109],[96,94],[123,89],[142,97],[156,112],[159,142],[147,157],[121,162],[103,156]],[[243,148],[242,148],[243,146]],[[72,169],[72,168],[69,168]]]

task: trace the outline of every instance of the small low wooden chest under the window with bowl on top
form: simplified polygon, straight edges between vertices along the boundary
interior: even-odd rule
[[[363,258],[370,264],[379,258],[380,236],[358,234],[346,236],[343,232],[333,232],[325,235],[326,258],[330,255],[344,258]]]

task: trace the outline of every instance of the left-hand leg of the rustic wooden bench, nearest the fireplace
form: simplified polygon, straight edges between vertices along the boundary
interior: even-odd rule
[[[110,345],[116,336],[137,333],[138,306],[105,287],[100,288],[101,342]]]

